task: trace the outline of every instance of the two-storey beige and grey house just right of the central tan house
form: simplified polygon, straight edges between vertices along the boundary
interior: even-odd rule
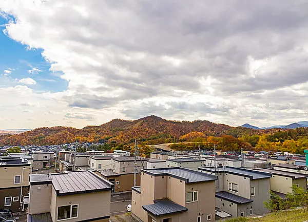
[[[230,217],[239,217],[268,212],[263,202],[270,198],[268,191],[271,187],[271,173],[235,167],[199,170],[218,176],[215,194],[218,217],[224,213]]]

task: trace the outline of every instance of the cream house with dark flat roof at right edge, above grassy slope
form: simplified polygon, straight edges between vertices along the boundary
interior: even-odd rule
[[[256,169],[260,172],[271,173],[271,190],[280,197],[284,197],[287,193],[292,193],[292,186],[301,187],[307,191],[307,174],[287,172],[269,168]]]

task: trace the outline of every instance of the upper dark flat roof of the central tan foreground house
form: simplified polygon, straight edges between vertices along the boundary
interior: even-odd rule
[[[202,181],[211,181],[217,179],[217,176],[215,175],[210,175],[207,173],[180,167],[141,169],[141,172],[150,174],[152,176],[167,175],[175,177],[184,180],[186,184],[202,182]]]

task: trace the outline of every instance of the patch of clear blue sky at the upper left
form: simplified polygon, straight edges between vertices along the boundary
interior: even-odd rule
[[[11,19],[13,19],[11,17]],[[21,43],[9,38],[5,33],[5,24],[9,21],[0,16],[0,73],[10,70],[7,78],[0,78],[2,87],[15,86],[19,79],[32,78],[36,84],[31,88],[39,92],[61,92],[66,90],[68,83],[62,79],[61,72],[49,71],[50,63],[42,56],[42,49],[27,49]],[[34,70],[30,73],[29,70]]]

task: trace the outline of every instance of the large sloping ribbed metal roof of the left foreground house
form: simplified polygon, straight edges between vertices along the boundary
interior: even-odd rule
[[[111,190],[111,183],[91,171],[51,174],[57,196]]]

